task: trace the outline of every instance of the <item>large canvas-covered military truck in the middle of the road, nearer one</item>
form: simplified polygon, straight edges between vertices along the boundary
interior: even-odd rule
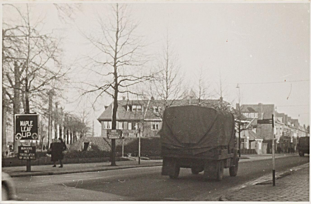
[[[160,130],[162,175],[178,178],[180,168],[204,180],[223,178],[224,168],[236,176],[239,167],[233,114],[201,106],[168,107]]]

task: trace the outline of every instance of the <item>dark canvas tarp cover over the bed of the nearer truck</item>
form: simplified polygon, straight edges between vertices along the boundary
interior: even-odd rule
[[[161,145],[169,149],[195,150],[227,146],[235,140],[231,113],[200,106],[168,107],[160,131]],[[196,152],[196,153],[195,153]]]

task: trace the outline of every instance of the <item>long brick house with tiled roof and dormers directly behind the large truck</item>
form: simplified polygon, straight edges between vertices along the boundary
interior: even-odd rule
[[[118,100],[117,127],[123,130],[124,137],[158,137],[162,127],[162,114],[165,107],[198,105],[220,109],[231,109],[228,102],[219,100]],[[105,107],[104,112],[97,119],[101,123],[101,135],[107,137],[106,130],[111,129],[112,103]]]

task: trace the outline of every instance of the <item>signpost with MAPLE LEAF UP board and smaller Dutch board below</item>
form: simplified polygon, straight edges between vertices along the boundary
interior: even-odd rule
[[[15,140],[39,140],[39,115],[15,114],[14,138]],[[35,146],[18,147],[18,159],[26,159],[26,171],[31,172],[31,160],[35,159]]]

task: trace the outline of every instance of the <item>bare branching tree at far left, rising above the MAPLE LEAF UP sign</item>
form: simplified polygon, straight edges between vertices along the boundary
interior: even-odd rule
[[[13,4],[4,6],[16,12],[16,19],[13,22],[3,21],[2,76],[5,78],[2,87],[7,89],[7,95],[13,102],[13,114],[20,113],[21,103],[24,112],[30,113],[31,99],[42,97],[67,72],[60,60],[61,40],[53,37],[53,33],[42,33],[44,19],[32,19],[28,4],[24,7]],[[38,100],[32,100],[35,101]],[[16,142],[14,144],[16,151]]]

